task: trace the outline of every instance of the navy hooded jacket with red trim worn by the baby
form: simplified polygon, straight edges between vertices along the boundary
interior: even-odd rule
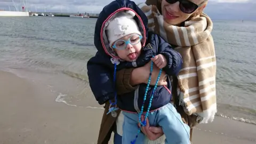
[[[142,52],[135,63],[137,67],[146,65],[146,63],[150,62],[150,59],[153,57],[153,55],[157,54],[163,54],[168,62],[167,66],[163,68],[167,75],[177,75],[182,66],[181,55],[178,52],[174,51],[171,45],[164,41],[163,38],[156,34],[148,32],[147,17],[134,2],[128,0],[113,1],[105,6],[102,12],[99,14],[99,18],[95,25],[94,33],[94,45],[97,48],[98,52],[95,54],[94,57],[89,60],[89,62],[87,62],[87,74],[89,76],[90,87],[96,100],[99,102],[100,105],[110,99],[114,99],[114,94],[116,91],[114,89],[113,82],[114,65],[111,62],[111,58],[113,60],[114,58],[118,57],[111,49],[109,49],[109,44],[105,34],[105,28],[108,24],[109,19],[114,17],[117,12],[125,10],[131,10],[136,13],[137,17],[135,17],[134,19],[135,21],[137,21],[141,34],[143,36],[141,41]],[[132,67],[134,67],[134,63],[121,61],[119,65],[117,65],[117,70]],[[147,97],[151,96],[150,90],[152,90],[153,87],[154,86],[149,87]],[[154,99],[152,101],[151,109],[164,106],[170,101],[170,82],[167,87],[169,90],[167,90],[164,86],[157,87],[157,90],[154,94]],[[140,84],[138,103],[141,103],[141,100],[143,101],[145,88],[146,84]],[[133,100],[134,91],[126,93],[124,95],[118,95],[117,105],[123,110],[135,112],[133,106],[127,106],[127,104],[125,104],[129,103],[131,105],[130,102],[133,103]],[[146,103],[148,102],[146,101]],[[139,105],[139,107],[140,106],[141,105]]]

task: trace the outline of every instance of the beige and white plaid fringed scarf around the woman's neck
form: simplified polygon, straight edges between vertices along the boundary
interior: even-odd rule
[[[180,105],[188,115],[199,115],[201,123],[212,122],[216,105],[216,58],[211,31],[213,23],[206,14],[185,22],[185,27],[172,26],[163,20],[156,6],[138,5],[148,17],[149,30],[176,45],[183,59],[178,75]]]

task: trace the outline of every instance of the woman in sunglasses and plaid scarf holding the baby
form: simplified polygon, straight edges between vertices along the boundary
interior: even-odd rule
[[[147,5],[154,6],[147,6]],[[203,14],[207,0],[147,0],[139,7],[149,19],[148,27],[161,35],[183,58],[183,69],[178,77],[173,77],[173,98],[183,122],[192,128],[199,122],[212,122],[217,111],[215,97],[215,51],[211,36],[212,21]],[[136,69],[124,69],[117,74],[118,93],[135,89],[135,85],[147,83],[149,65]],[[151,77],[157,77],[159,69],[154,68]],[[129,76],[124,78],[123,76]],[[154,83],[151,80],[151,83]],[[175,88],[178,89],[175,89]],[[114,143],[122,143],[122,114],[117,119],[102,117],[98,143],[108,143],[114,130]],[[115,124],[116,121],[116,124]],[[164,143],[161,127],[142,127],[148,139],[145,143]],[[150,141],[153,140],[153,141]],[[154,141],[155,140],[155,141]]]

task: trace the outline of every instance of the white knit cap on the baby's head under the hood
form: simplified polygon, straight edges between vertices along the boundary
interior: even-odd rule
[[[141,35],[138,24],[133,19],[134,17],[135,13],[133,11],[122,11],[109,21],[106,32],[110,47],[115,41],[124,36],[130,34]]]

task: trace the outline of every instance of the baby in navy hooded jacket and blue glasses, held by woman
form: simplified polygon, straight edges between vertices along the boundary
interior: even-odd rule
[[[142,67],[152,61],[167,75],[177,75],[182,66],[181,55],[163,38],[149,33],[147,21],[142,21],[147,19],[146,15],[142,12],[139,15],[136,11],[139,11],[138,7],[123,7],[119,11],[109,12],[107,17],[103,17],[103,11],[101,12],[95,27],[95,30],[101,29],[100,34],[95,31],[94,35],[100,36],[100,42],[95,45],[98,53],[89,60],[90,65],[101,65],[102,69],[109,69],[109,73],[113,69],[115,74],[117,70]],[[95,75],[94,71],[88,67],[90,85],[99,79],[99,75]],[[107,85],[109,81],[111,85],[110,82],[114,81],[115,75],[113,79],[108,79],[105,72],[106,70],[97,71],[101,73],[100,83],[104,81]],[[180,114],[170,103],[172,94],[169,76],[166,76],[166,81],[166,86],[140,84],[135,91],[117,95],[117,106],[124,115],[122,144],[143,143],[145,135],[137,126],[141,115],[149,119],[149,125],[162,127],[166,135],[165,143],[190,143],[189,126],[182,122]],[[98,91],[106,92],[108,86],[99,85]],[[141,125],[145,126],[146,123],[141,122]]]

